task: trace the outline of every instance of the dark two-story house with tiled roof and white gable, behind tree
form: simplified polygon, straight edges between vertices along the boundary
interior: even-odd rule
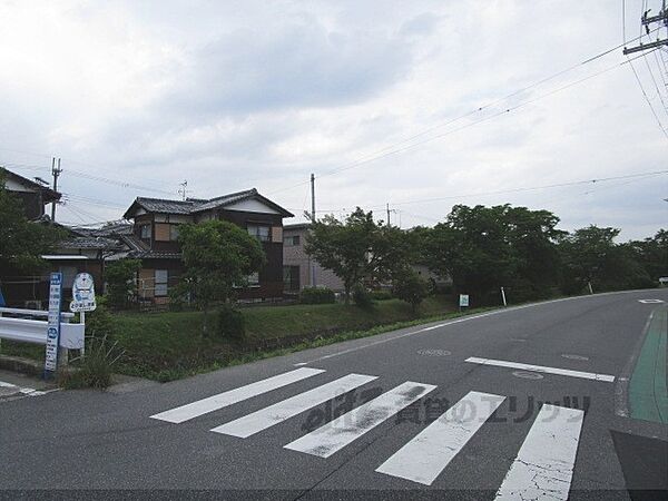
[[[169,200],[137,198],[124,217],[134,222],[131,235],[122,239],[127,257],[140,258],[139,299],[167,303],[169,288],[183,273],[178,228],[185,223],[224,219],[245,228],[262,242],[267,263],[248,277],[240,299],[269,299],[283,296],[283,218],[288,210],[262,196],[255,188],[212,199]]]

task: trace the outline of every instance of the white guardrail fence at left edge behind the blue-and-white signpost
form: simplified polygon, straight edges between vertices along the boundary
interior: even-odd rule
[[[10,314],[12,316],[4,316]],[[20,315],[21,317],[17,317]],[[0,338],[21,341],[23,343],[47,344],[47,316],[49,312],[40,310],[18,310],[0,307]],[[26,318],[32,317],[32,318]],[[70,324],[73,313],[60,314],[60,347],[65,350],[84,350],[85,324]],[[35,318],[45,320],[35,320]]]

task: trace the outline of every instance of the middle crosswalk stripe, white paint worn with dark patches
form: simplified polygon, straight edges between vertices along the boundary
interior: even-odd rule
[[[284,446],[328,458],[435,387],[407,381]]]

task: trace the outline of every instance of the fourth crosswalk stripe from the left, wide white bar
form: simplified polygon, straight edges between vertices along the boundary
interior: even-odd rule
[[[431,485],[504,400],[470,392],[376,471]]]

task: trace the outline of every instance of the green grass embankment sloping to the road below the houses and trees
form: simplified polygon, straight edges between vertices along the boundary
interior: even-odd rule
[[[117,347],[124,352],[115,366],[117,372],[170,381],[460,315],[453,311],[450,298],[442,296],[428,298],[418,315],[410,305],[397,299],[376,302],[367,310],[343,304],[256,306],[243,310],[244,342],[220,338],[213,332],[203,337],[199,312],[121,313],[112,315],[115,327],[109,337],[118,342]],[[216,317],[212,314],[212,331],[215,324]],[[3,343],[2,353],[43,357],[43,347]]]

